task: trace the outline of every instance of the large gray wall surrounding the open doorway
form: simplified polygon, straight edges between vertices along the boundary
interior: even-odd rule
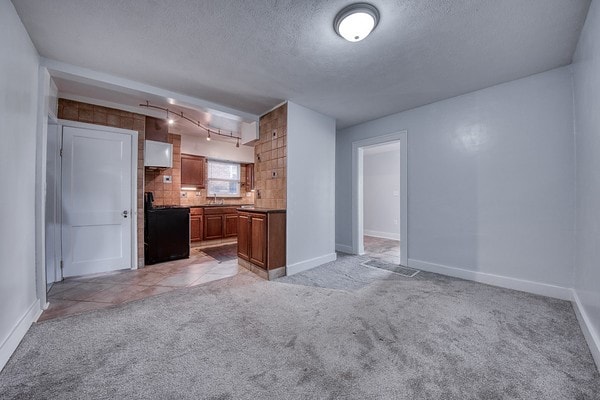
[[[338,131],[336,243],[352,242],[352,142],[406,129],[409,263],[571,287],[572,101],[565,67]]]

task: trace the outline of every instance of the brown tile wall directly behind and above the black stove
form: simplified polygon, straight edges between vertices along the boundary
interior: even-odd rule
[[[169,133],[169,143],[173,145],[173,168],[146,168],[146,192],[154,193],[157,206],[178,206],[181,197],[181,136]],[[171,183],[164,183],[164,176],[172,177]]]

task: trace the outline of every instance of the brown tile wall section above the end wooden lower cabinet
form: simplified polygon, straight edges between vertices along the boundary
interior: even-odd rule
[[[260,117],[254,147],[256,206],[287,207],[287,103]]]

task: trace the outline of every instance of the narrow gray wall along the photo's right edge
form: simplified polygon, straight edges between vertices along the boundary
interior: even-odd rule
[[[577,220],[574,287],[600,365],[600,4],[593,1],[574,63]]]

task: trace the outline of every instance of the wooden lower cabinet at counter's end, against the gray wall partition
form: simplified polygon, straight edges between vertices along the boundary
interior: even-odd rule
[[[285,267],[285,210],[240,211],[238,257],[264,270]]]

